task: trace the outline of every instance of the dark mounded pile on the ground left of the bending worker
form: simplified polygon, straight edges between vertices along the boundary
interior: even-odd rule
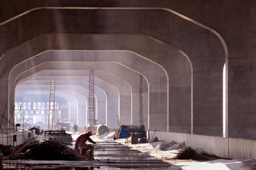
[[[53,140],[44,141],[32,147],[22,157],[34,160],[83,160],[78,152]]]

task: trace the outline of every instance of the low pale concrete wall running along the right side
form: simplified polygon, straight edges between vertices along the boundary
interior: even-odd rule
[[[149,131],[151,138],[154,131]],[[185,146],[192,148],[203,148],[208,154],[220,156],[221,158],[230,159],[255,159],[256,158],[256,141],[223,138],[207,135],[195,135],[185,133],[170,133],[156,131],[154,137],[165,142],[185,142]]]

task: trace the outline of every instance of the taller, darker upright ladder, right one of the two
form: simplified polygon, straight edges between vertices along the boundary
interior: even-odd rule
[[[94,108],[94,70],[89,68],[89,125],[91,131],[96,131]]]

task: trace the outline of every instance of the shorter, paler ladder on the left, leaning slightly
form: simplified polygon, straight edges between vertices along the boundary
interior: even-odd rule
[[[54,108],[55,108],[55,81],[51,81],[50,100],[49,100],[48,130],[54,130],[53,129]]]

